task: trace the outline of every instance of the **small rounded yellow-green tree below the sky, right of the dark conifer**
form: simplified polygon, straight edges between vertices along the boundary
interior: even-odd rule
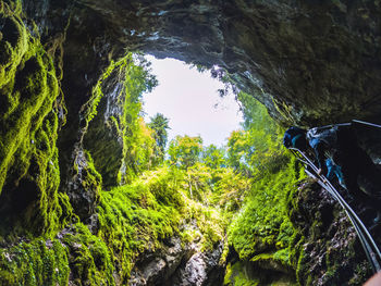
[[[201,151],[201,137],[189,137],[187,135],[176,136],[176,138],[170,142],[168,149],[170,161],[185,170],[199,161]]]

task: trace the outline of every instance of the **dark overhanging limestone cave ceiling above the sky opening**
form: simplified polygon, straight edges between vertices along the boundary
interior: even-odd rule
[[[34,1],[25,2],[30,16],[57,30],[51,11],[49,22],[32,9]],[[77,102],[99,64],[127,48],[218,64],[283,123],[380,114],[378,1],[79,0],[66,8],[45,2],[50,15],[71,13],[64,75],[71,79],[67,97],[83,90],[74,91]]]

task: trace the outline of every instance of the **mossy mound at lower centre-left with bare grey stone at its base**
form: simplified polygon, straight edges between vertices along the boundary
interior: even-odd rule
[[[145,173],[132,186],[102,192],[98,235],[113,253],[118,276],[121,281],[131,277],[131,285],[145,285],[140,284],[144,279],[169,282],[180,262],[196,252],[211,256],[220,248],[223,223],[186,198],[184,178],[173,175],[168,167],[159,169]],[[214,264],[206,263],[208,271],[223,272],[220,257],[221,251],[209,259]]]

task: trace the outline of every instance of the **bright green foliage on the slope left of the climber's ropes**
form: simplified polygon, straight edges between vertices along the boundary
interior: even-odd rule
[[[287,249],[293,227],[287,216],[286,198],[299,179],[294,165],[292,159],[281,172],[253,182],[242,211],[229,228],[229,240],[239,258],[251,259],[263,249],[272,249],[274,253]],[[279,258],[290,264],[285,252]]]

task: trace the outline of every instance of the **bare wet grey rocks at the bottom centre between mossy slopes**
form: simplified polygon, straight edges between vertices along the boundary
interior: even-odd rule
[[[128,285],[222,285],[224,266],[219,263],[221,253],[222,246],[201,252],[195,244],[184,247],[180,238],[172,237],[162,250],[142,254]]]

